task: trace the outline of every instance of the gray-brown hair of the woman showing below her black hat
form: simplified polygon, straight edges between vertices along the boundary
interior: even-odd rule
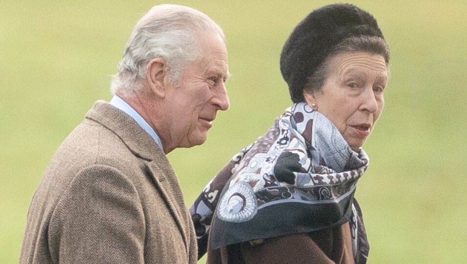
[[[367,52],[369,54],[381,55],[384,57],[386,66],[389,65],[389,46],[382,38],[375,36],[359,36],[344,39],[334,46],[324,61],[319,64],[316,70],[308,77],[304,91],[319,91],[330,73],[330,62],[337,54],[343,52]]]

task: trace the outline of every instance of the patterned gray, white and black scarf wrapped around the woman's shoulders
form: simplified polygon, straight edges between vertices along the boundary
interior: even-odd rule
[[[368,242],[354,193],[368,156],[306,103],[288,108],[232,160],[190,208],[199,257],[211,247],[307,233],[350,221],[356,263]]]

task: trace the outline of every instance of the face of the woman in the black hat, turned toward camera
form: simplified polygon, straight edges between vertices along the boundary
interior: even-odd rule
[[[384,57],[343,52],[331,58],[323,87],[305,92],[305,100],[334,123],[357,151],[373,130],[384,107],[388,73]]]

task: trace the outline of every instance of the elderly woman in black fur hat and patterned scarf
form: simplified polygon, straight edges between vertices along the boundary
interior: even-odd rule
[[[294,104],[191,207],[199,257],[207,250],[208,263],[366,262],[354,194],[388,62],[376,20],[354,5],[324,6],[297,25],[281,54]]]

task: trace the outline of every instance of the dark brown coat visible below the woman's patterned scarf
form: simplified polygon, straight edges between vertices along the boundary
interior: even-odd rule
[[[208,264],[354,264],[349,223],[221,249],[208,249]],[[252,245],[253,244],[253,245]]]

